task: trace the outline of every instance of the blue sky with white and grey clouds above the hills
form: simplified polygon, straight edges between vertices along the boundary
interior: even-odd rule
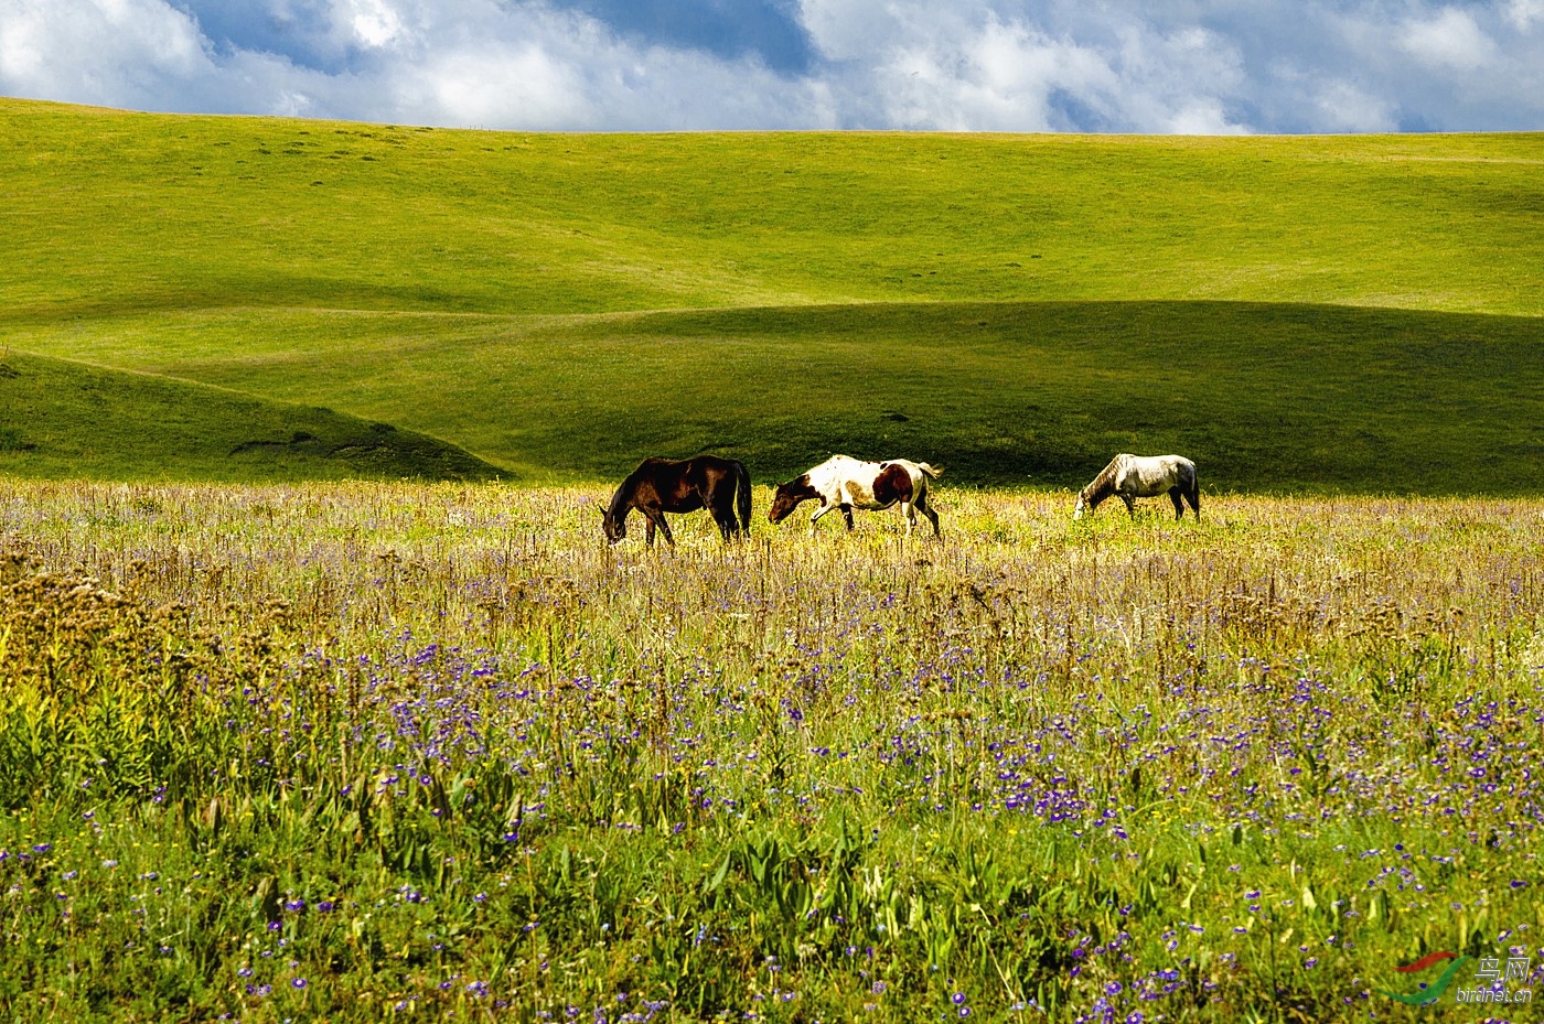
[[[525,130],[1544,130],[1544,0],[0,0],[0,96]]]

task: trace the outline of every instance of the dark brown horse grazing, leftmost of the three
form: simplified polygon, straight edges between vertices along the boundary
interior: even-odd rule
[[[738,506],[740,520],[735,520]],[[655,543],[655,527],[675,547],[665,512],[696,512],[706,507],[724,543],[750,535],[750,473],[744,463],[716,455],[669,460],[645,458],[611,495],[605,509],[605,538],[618,543],[627,537],[627,514],[638,509],[648,521],[647,543]]]

